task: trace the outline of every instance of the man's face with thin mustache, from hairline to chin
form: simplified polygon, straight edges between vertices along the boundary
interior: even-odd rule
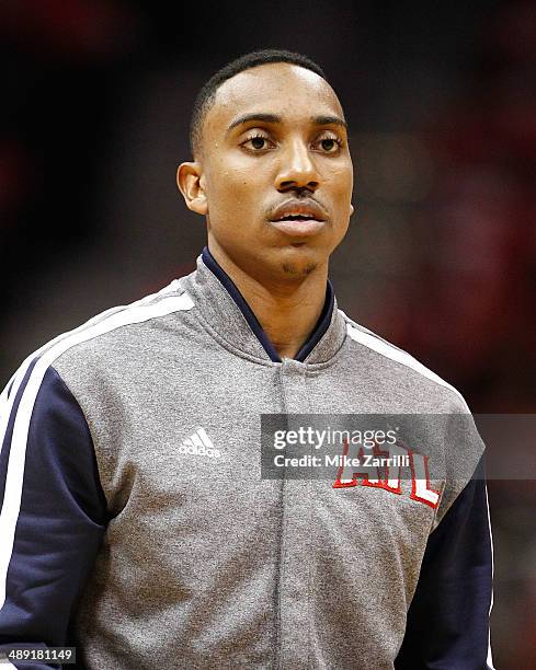
[[[275,280],[327,269],[352,213],[343,119],[331,86],[298,66],[269,63],[221,84],[197,160],[196,211],[217,258]]]

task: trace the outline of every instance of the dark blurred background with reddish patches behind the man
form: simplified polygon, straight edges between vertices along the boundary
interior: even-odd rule
[[[341,308],[475,413],[534,413],[536,2],[505,0],[0,3],[0,386],[194,268],[204,220],[175,187],[192,104],[261,47],[317,60],[351,125]],[[536,669],[536,483],[489,495],[495,667]]]

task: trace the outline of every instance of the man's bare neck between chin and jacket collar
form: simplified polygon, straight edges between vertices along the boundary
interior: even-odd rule
[[[217,246],[210,253],[256,316],[281,359],[295,358],[311,335],[326,302],[328,268],[317,268],[299,281],[252,277]]]

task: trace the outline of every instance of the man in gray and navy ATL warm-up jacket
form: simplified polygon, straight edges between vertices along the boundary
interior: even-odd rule
[[[249,54],[199,93],[192,150],[197,269],[48,343],[2,394],[1,643],[76,645],[88,669],[492,667],[480,453],[440,492],[261,478],[264,414],[468,413],[337,307],[335,93],[304,56]]]

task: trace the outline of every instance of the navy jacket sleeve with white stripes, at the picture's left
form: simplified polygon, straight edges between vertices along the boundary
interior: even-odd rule
[[[56,370],[38,374],[37,362],[14,378],[0,401],[3,654],[11,645],[75,646],[69,626],[107,522],[83,413]],[[16,661],[7,667],[59,668]]]

